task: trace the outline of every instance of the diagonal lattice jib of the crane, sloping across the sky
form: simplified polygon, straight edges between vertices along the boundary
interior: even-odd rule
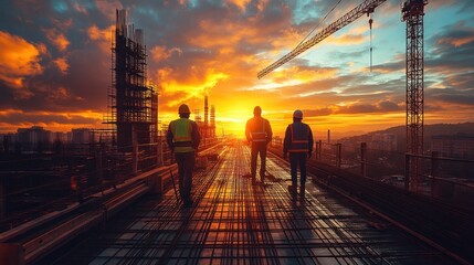
[[[373,10],[386,2],[387,0],[366,0],[352,10],[350,10],[348,13],[343,15],[340,19],[336,20],[335,22],[330,23],[328,26],[323,29],[319,33],[314,35],[312,39],[303,42],[301,45],[295,47],[293,51],[281,57],[278,61],[274,62],[273,64],[268,65],[264,70],[260,71],[256,75],[260,78],[267,75],[275,68],[282,66],[286,62],[291,61],[292,59],[298,56],[309,47],[316,45],[317,43],[322,42],[324,39],[328,38],[336,31],[343,29],[344,26],[348,25],[349,23],[354,22],[358,18],[362,17],[364,14],[372,13]]]

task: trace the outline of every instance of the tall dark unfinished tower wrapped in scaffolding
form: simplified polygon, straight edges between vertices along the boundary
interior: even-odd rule
[[[158,93],[147,83],[143,30],[127,24],[126,10],[117,10],[116,15],[115,39],[112,42],[112,86],[105,123],[115,126],[114,142],[118,149],[129,151],[134,142],[156,142]]]

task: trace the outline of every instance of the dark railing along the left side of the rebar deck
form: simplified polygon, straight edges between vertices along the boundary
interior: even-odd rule
[[[218,139],[206,139],[199,151],[217,144]],[[97,192],[116,189],[171,161],[162,137],[154,144],[123,148],[93,142],[0,153],[0,233],[72,203],[84,203]]]

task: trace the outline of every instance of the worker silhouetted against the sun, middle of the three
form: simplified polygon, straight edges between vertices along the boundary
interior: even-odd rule
[[[260,180],[265,182],[266,167],[266,145],[272,141],[272,127],[267,119],[262,118],[262,108],[256,106],[253,109],[253,118],[249,119],[245,125],[245,137],[247,142],[252,144],[251,151],[251,173],[252,184],[256,184],[256,157],[260,153]]]

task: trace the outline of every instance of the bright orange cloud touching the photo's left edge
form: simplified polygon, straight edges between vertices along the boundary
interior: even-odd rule
[[[43,72],[40,55],[45,52],[44,44],[32,44],[21,36],[0,31],[0,80],[11,87],[22,88],[27,76]],[[18,93],[20,97],[30,96],[25,91]]]

